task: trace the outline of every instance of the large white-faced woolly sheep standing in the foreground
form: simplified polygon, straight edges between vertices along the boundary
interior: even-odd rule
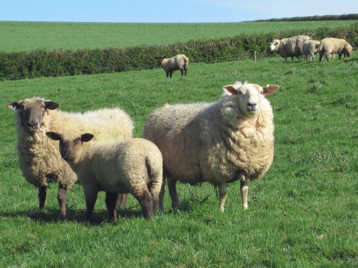
[[[161,211],[165,176],[173,209],[180,206],[177,180],[218,186],[221,211],[226,184],[240,180],[242,205],[248,208],[249,182],[264,175],[273,161],[273,112],[263,95],[278,88],[236,82],[223,87],[218,102],[165,105],[147,117],[143,137],[154,142],[163,156]]]

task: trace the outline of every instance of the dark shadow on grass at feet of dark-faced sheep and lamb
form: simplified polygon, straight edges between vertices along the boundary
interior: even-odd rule
[[[30,218],[32,221],[41,224],[48,224],[48,223],[62,223],[62,222],[72,222],[72,223],[80,223],[80,224],[88,224],[92,226],[100,226],[105,223],[110,224],[108,221],[108,215],[106,209],[95,209],[90,221],[85,219],[85,209],[71,209],[68,208],[66,210],[66,216],[60,216],[58,209],[32,209],[32,210],[22,210],[22,211],[11,211],[11,212],[1,212],[0,217],[12,217],[12,218]],[[157,212],[158,213],[158,212]],[[143,213],[142,210],[131,210],[131,209],[124,209],[119,210],[117,209],[117,216],[118,219],[120,218],[138,218],[142,217],[143,220]]]

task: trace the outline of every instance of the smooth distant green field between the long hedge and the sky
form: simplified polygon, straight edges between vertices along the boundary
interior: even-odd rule
[[[233,23],[78,23],[0,21],[0,51],[160,45],[296,29],[336,28],[358,20]]]

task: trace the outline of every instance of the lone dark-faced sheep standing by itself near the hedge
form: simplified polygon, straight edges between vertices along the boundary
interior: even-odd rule
[[[162,68],[167,74],[167,77],[169,77],[170,75],[171,78],[173,71],[176,70],[180,70],[182,76],[187,75],[188,63],[189,63],[189,59],[187,56],[183,54],[179,54],[168,59],[166,58],[166,56],[155,57],[155,59],[158,60],[158,64],[162,66]]]

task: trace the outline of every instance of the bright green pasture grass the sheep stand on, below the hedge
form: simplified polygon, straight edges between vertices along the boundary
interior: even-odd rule
[[[188,76],[161,69],[0,82],[0,266],[21,267],[356,267],[358,265],[358,55],[348,60],[191,64]],[[179,184],[183,210],[143,219],[138,203],[106,220],[100,194],[84,221],[80,186],[58,218],[57,186],[45,209],[17,165],[16,131],[6,103],[42,96],[66,111],[119,106],[141,136],[146,116],[165,103],[216,101],[236,80],[278,84],[275,158],[250,184],[243,211],[239,183],[228,185],[226,212],[214,189]]]

